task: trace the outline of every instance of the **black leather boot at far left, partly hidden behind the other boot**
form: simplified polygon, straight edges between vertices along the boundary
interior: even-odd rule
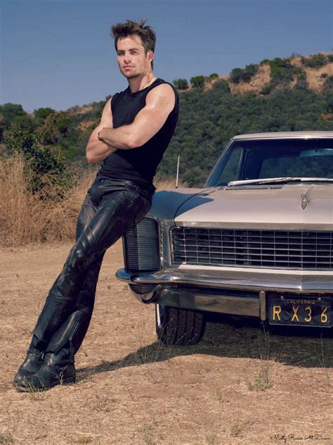
[[[32,336],[32,341],[27,350],[27,356],[25,356],[25,360],[15,374],[13,380],[14,386],[20,384],[26,377],[30,377],[40,370],[41,365],[44,363],[44,351],[46,350],[47,344],[48,341],[40,340],[35,335]]]

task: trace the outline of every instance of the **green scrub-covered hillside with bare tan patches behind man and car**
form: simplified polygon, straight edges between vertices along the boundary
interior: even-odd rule
[[[159,166],[161,178],[176,174],[200,185],[235,134],[268,131],[333,130],[333,55],[295,55],[212,74],[175,80],[181,114],[169,149]],[[107,96],[105,101],[108,99]],[[0,106],[0,144],[13,127],[38,132],[39,144],[68,161],[84,161],[84,149],[99,122],[105,101],[56,112]]]

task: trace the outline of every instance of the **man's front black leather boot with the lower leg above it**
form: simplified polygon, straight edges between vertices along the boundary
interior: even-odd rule
[[[89,313],[90,315],[90,313]],[[81,345],[89,325],[84,312],[75,311],[56,332],[47,346],[44,362],[34,375],[16,384],[18,391],[45,391],[58,384],[75,382],[74,353]]]

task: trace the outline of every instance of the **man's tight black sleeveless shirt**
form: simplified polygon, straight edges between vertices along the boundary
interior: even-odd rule
[[[111,110],[113,127],[129,125],[136,118],[138,112],[145,106],[145,98],[153,88],[168,83],[156,79],[152,84],[141,91],[131,93],[128,87],[123,92],[112,96]],[[108,177],[122,180],[131,180],[138,184],[152,187],[152,179],[156,173],[157,165],[162,160],[164,151],[174,134],[179,113],[179,99],[174,85],[176,101],[174,109],[169,114],[163,127],[143,146],[135,149],[118,149],[111,153],[100,168],[99,173]]]

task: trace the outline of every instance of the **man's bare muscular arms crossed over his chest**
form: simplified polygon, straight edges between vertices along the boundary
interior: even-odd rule
[[[111,99],[105,104],[99,125],[91,133],[86,146],[89,164],[104,161],[117,149],[135,149],[149,141],[164,125],[175,104],[173,89],[161,84],[152,89],[145,107],[136,115],[133,123],[113,128]]]

